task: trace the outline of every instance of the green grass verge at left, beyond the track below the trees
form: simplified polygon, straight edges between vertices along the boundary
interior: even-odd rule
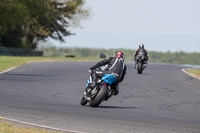
[[[18,67],[28,62],[37,61],[85,61],[85,60],[100,60],[99,58],[73,58],[73,57],[13,57],[0,56],[0,72],[6,71],[13,67]]]

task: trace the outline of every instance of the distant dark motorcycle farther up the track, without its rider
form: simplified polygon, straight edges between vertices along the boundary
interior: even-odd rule
[[[138,74],[142,74],[145,67],[147,67],[147,64],[145,63],[145,56],[140,53],[136,56],[136,69]]]

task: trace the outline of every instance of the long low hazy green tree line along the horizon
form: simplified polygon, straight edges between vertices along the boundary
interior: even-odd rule
[[[90,49],[90,48],[38,48],[44,51],[44,56],[65,57],[66,55],[74,55],[75,57],[96,57],[99,58],[100,53],[104,53],[107,57],[113,56],[114,52],[122,51],[125,55],[125,61],[134,61],[134,49]],[[156,52],[148,51],[149,62],[154,63],[173,63],[173,64],[191,64],[200,65],[200,53],[180,52]]]

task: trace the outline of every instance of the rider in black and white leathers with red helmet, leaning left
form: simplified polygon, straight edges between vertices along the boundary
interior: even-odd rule
[[[96,68],[104,65],[108,65],[105,70],[96,70]],[[124,63],[124,54],[121,51],[117,51],[114,53],[113,57],[108,57],[90,68],[90,70],[92,70],[91,86],[96,85],[97,78],[101,79],[105,74],[113,74],[116,77],[116,82],[110,87],[114,90],[113,95],[117,95],[119,92],[118,83],[123,81],[126,69],[127,67]]]

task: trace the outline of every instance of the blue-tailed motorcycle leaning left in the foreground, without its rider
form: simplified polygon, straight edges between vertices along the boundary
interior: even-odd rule
[[[91,107],[98,107],[102,101],[107,101],[115,93],[110,88],[110,85],[116,82],[116,78],[112,74],[105,74],[101,79],[97,79],[96,86],[91,87],[91,82],[92,78],[90,75],[80,102],[81,105],[89,103]]]

